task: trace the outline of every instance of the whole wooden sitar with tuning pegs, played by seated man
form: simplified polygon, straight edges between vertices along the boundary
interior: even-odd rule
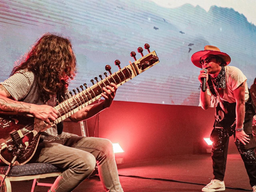
[[[135,61],[122,69],[119,66],[120,62],[116,60],[115,63],[119,70],[113,74],[109,69],[110,66],[106,66],[106,70],[109,70],[110,75],[107,76],[105,74],[105,78],[100,76],[101,81],[93,82],[92,86],[72,95],[71,98],[54,107],[58,110],[58,118],[53,122],[53,126],[97,101],[101,97],[101,93],[104,93],[103,87],[111,86],[111,83],[121,86],[143,71],[156,65],[159,62],[156,52],[150,52],[148,44],[145,44],[145,49],[148,50],[148,54],[144,56],[142,47],[138,48],[138,52],[142,55],[138,60],[135,57],[136,53],[132,51],[131,57]],[[0,115],[0,164],[10,165],[14,156],[17,155],[17,151],[20,153],[15,164],[26,164],[34,156],[40,137],[41,133],[34,131],[33,117]]]

